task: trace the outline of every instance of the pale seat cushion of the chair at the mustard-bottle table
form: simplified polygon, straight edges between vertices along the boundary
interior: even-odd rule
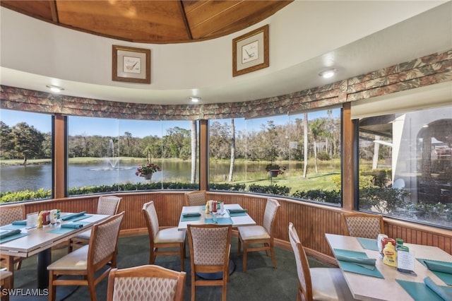
[[[314,300],[355,300],[340,268],[309,268]]]

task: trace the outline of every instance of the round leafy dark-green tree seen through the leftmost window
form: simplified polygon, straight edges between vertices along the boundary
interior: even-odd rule
[[[29,126],[25,122],[20,122],[13,126],[12,135],[14,141],[14,151],[23,157],[23,164],[27,164],[27,159],[32,157],[42,158],[42,141],[44,135]]]

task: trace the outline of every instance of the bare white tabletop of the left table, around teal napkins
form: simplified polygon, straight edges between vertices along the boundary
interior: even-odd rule
[[[56,244],[69,240],[69,238],[78,235],[80,232],[92,228],[95,223],[98,223],[109,217],[100,214],[87,213],[87,216],[88,215],[90,217],[76,221],[76,223],[78,221],[83,223],[88,222],[88,224],[83,225],[83,228],[72,229],[71,231],[64,233],[49,232],[51,230],[60,228],[60,224],[49,225],[45,228],[32,228],[28,230],[24,226],[24,228],[21,228],[20,230],[23,233],[28,233],[28,235],[0,244],[0,254],[20,257],[32,256],[44,249],[48,249]],[[64,214],[62,214],[62,216],[64,216]],[[71,223],[71,220],[64,221],[61,224],[64,223]]]

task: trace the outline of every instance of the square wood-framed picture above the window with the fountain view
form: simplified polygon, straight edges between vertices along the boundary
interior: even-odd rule
[[[150,49],[113,45],[112,80],[150,83]]]

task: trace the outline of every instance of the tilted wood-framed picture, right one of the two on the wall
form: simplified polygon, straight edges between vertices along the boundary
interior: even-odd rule
[[[268,67],[268,25],[232,40],[232,76]]]

